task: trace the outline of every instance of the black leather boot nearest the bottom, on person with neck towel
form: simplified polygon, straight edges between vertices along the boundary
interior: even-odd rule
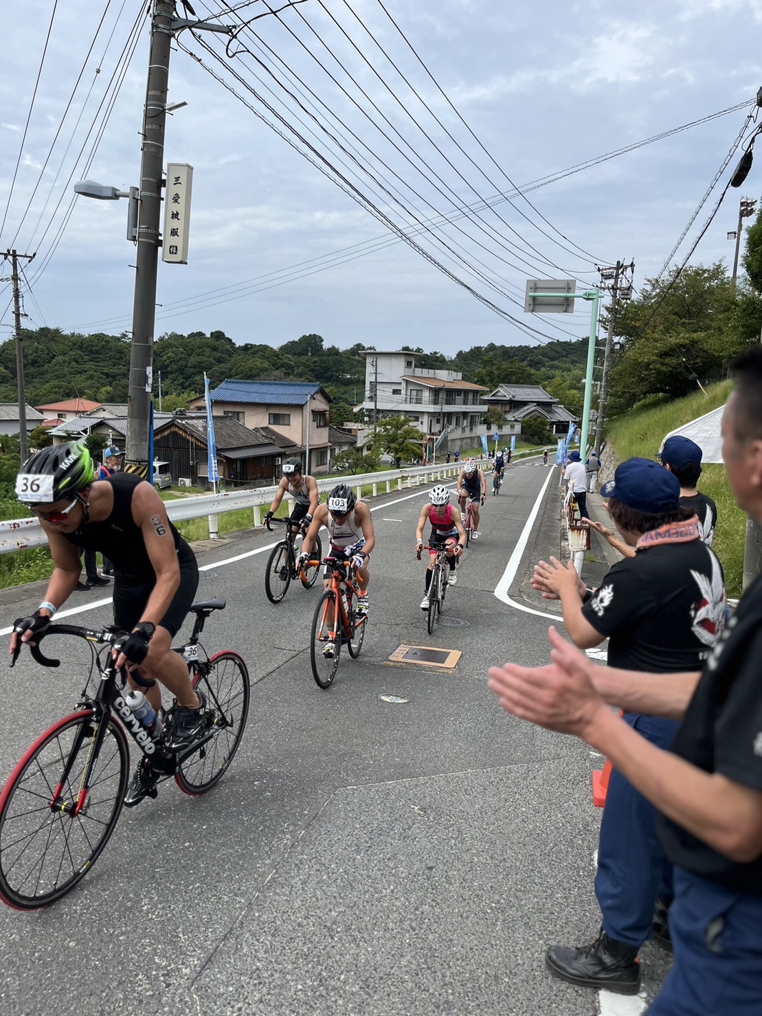
[[[551,946],[546,965],[552,974],[582,988],[605,988],[618,995],[637,995],[640,990],[638,950],[600,933],[594,942],[579,949]]]

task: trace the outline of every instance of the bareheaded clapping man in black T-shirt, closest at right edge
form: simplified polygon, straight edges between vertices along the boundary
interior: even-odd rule
[[[731,364],[722,457],[736,501],[762,525],[762,348]],[[508,712],[606,755],[660,813],[675,865],[675,964],[649,1016],[758,1016],[762,1000],[762,576],[747,588],[701,674],[592,664],[551,629],[552,663],[508,663],[490,687]],[[672,751],[610,706],[682,719]]]

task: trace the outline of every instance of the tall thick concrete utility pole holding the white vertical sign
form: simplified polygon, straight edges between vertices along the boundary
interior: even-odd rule
[[[130,383],[127,396],[127,446],[124,468],[148,478],[150,392],[155,324],[164,135],[170,76],[174,0],[153,0],[148,81],[143,110],[135,299],[132,309]]]

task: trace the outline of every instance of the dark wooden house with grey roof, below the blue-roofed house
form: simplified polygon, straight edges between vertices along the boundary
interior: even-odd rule
[[[232,417],[214,417],[217,469],[220,480],[231,487],[277,483],[283,458],[299,455],[301,449],[271,427],[246,427]],[[206,415],[176,414],[156,426],[153,456],[169,462],[173,481],[187,480],[188,486],[208,483]]]

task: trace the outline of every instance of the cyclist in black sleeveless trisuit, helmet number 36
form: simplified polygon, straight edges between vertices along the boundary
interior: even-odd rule
[[[170,522],[151,484],[119,472],[94,481],[83,444],[56,445],[36,452],[16,478],[16,496],[35,511],[48,536],[54,569],[45,601],[28,620],[22,642],[50,623],[79,579],[79,548],[100,551],[114,566],[114,623],[130,634],[117,643],[117,666],[128,664],[129,683],[145,690],[158,711],[156,680],[175,696],[165,743],[171,751],[193,744],[203,722],[204,696],[194,692],[188,668],[172,651],[198,586],[193,551]],[[18,622],[16,622],[18,624]],[[16,644],[11,638],[11,652]],[[148,792],[135,773],[126,802]]]

